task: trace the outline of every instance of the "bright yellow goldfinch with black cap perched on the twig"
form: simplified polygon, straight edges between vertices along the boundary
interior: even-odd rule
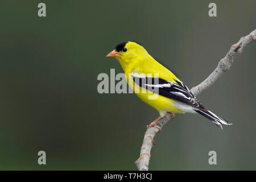
[[[123,42],[106,57],[115,57],[125,72],[128,85],[143,102],[159,111],[160,116],[147,126],[154,126],[167,113],[199,113],[222,129],[232,123],[205,109],[188,87],[174,73],[163,67],[146,49],[135,42]],[[148,76],[149,75],[149,76]],[[151,78],[151,83],[148,80]],[[154,81],[158,79],[157,83]],[[154,89],[158,92],[154,92]],[[156,94],[157,97],[150,98]],[[158,127],[159,128],[159,127]],[[160,130],[160,128],[159,128]]]

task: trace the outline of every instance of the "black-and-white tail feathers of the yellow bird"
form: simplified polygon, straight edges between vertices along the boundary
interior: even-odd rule
[[[205,118],[209,119],[210,121],[212,121],[215,125],[217,125],[218,127],[220,127],[222,129],[221,124],[224,125],[233,125],[233,123],[230,123],[228,121],[226,121],[225,119],[222,119],[221,117],[218,117],[216,114],[212,113],[209,110],[194,110],[197,113],[203,115]]]

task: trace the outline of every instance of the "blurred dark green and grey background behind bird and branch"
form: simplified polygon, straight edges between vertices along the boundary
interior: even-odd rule
[[[47,17],[38,17],[38,3]],[[208,16],[210,2],[217,17]],[[0,2],[0,169],[136,169],[158,112],[135,94],[99,94],[97,76],[116,44],[139,42],[191,88],[241,36],[255,30],[256,1]],[[176,114],[155,138],[151,170],[256,169],[256,43],[198,98],[233,122],[218,129]],[[47,165],[39,166],[38,151]],[[217,165],[208,152],[217,152]]]

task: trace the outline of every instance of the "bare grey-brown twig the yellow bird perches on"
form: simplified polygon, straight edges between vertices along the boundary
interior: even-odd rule
[[[221,75],[223,75],[226,71],[230,69],[233,63],[234,57],[240,54],[242,52],[242,49],[247,44],[251,42],[255,42],[255,40],[256,40],[256,29],[252,31],[249,35],[242,37],[236,44],[231,46],[226,56],[218,62],[217,68],[215,68],[214,71],[210,73],[210,75],[203,82],[193,87],[191,89],[191,92],[195,94],[195,96],[197,96],[198,94],[203,92],[205,89],[213,85],[214,82],[216,82],[216,80],[219,77],[221,77]],[[156,123],[156,125],[162,128],[171,118],[172,118],[172,115],[167,113],[167,119],[166,118],[160,119]],[[148,170],[148,164],[151,156],[150,151],[155,144],[154,137],[158,132],[159,132],[159,129],[155,127],[151,127],[150,129],[147,129],[144,135],[140,157],[135,161],[135,164],[137,165],[137,168],[139,171]]]

